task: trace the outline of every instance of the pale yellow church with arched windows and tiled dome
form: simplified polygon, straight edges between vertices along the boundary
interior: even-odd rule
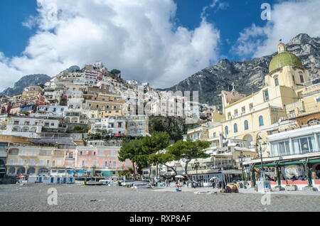
[[[225,120],[208,129],[209,138],[221,133],[226,138],[245,140],[252,147],[259,136],[262,142],[267,141],[265,127],[287,117],[287,106],[297,102],[310,84],[309,72],[296,55],[286,51],[284,43],[279,43],[278,52],[259,92],[245,97],[234,86],[232,91],[222,91]],[[264,155],[268,151],[267,147]]]

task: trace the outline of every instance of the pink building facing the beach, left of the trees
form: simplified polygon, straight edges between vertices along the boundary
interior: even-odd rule
[[[119,171],[132,168],[132,162],[119,161],[120,146],[78,146],[75,149],[75,169],[92,169],[95,171],[112,170],[117,176]]]

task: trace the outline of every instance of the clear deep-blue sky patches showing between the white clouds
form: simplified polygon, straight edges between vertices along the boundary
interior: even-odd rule
[[[203,7],[209,6],[212,0],[175,0],[177,4],[175,22],[178,26],[194,29],[201,23]],[[260,6],[265,0],[228,1],[225,9],[208,9],[207,20],[214,23],[221,31],[223,45],[222,55],[229,60],[241,60],[238,55],[230,53],[230,43],[235,43],[239,33],[252,23],[263,26]],[[272,4],[274,1],[268,1]],[[0,26],[5,31],[0,36],[0,51],[6,57],[20,55],[26,48],[28,39],[36,33],[36,28],[22,26],[29,16],[36,16],[36,0],[3,0],[0,1]]]

